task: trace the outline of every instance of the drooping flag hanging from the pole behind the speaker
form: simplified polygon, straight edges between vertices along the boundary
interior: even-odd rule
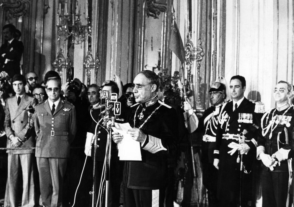
[[[173,19],[173,25],[171,26],[169,48],[178,57],[178,59],[181,61],[181,64],[183,64],[185,61],[185,49],[183,46],[183,41],[181,38],[180,31],[174,19]]]

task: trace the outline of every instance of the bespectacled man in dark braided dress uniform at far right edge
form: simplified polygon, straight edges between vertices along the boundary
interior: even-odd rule
[[[280,81],[273,90],[276,108],[261,119],[257,159],[262,161],[262,206],[286,206],[289,184],[288,153],[293,149],[294,107],[292,86]]]

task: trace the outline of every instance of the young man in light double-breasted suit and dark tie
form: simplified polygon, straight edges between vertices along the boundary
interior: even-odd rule
[[[26,78],[16,74],[12,78],[12,86],[15,96],[6,100],[4,128],[7,136],[8,148],[19,148],[17,150],[7,150],[8,153],[8,178],[5,192],[5,206],[18,206],[18,185],[17,176],[22,171],[23,194],[21,206],[34,206],[34,149],[35,137],[24,138],[33,120],[29,119],[29,106],[35,106],[36,99],[29,97],[24,92]],[[28,148],[28,149],[21,149]]]

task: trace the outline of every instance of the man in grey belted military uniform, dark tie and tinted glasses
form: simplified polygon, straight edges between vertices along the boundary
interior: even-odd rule
[[[60,99],[61,81],[46,83],[48,99],[36,106],[36,158],[44,206],[62,206],[63,178],[69,148],[76,134],[76,110]]]

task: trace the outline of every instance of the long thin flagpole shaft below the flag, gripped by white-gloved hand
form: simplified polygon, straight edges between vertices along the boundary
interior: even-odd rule
[[[184,75],[183,64],[181,63],[181,69],[182,69],[182,74]],[[183,88],[184,88],[184,99],[185,99],[185,101],[188,101],[188,97],[187,97],[187,93],[186,93],[186,83],[185,83],[185,81],[183,81]],[[189,138],[189,143],[190,143],[192,166],[193,166],[193,180],[194,180],[194,183],[196,185],[198,207],[200,207],[197,172],[196,172],[196,162],[195,162],[195,159],[194,159],[194,150],[193,150],[192,136],[191,136],[191,125],[190,125],[189,112],[188,112],[189,110],[185,110],[185,111],[186,111],[186,116],[187,116],[188,138]]]

